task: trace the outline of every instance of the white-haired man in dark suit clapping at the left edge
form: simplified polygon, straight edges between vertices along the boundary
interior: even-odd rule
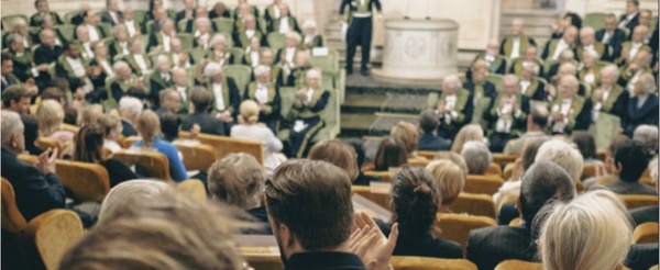
[[[38,157],[35,166],[23,162],[16,155],[25,150],[24,126],[21,116],[2,111],[2,178],[12,184],[19,211],[30,221],[53,209],[64,209],[66,195],[55,175],[57,150]]]

